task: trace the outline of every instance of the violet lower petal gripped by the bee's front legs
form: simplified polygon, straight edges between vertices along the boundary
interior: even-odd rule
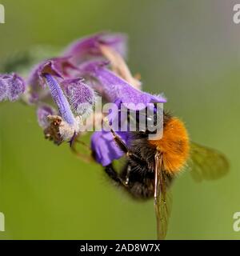
[[[129,134],[117,132],[122,141],[127,143]],[[91,137],[91,149],[94,152],[95,160],[102,166],[108,166],[115,159],[122,158],[123,152],[114,142],[113,135],[106,131],[96,131]]]

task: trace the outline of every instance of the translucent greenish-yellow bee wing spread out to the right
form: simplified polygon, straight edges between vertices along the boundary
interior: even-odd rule
[[[197,182],[221,178],[228,172],[229,163],[222,153],[194,142],[191,142],[190,148],[187,166]]]

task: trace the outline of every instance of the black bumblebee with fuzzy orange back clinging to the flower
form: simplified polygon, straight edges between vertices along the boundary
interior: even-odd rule
[[[148,130],[138,130],[130,133],[127,146],[111,127],[110,131],[126,154],[126,163],[120,171],[111,163],[105,167],[106,174],[132,197],[154,198],[158,239],[166,236],[172,203],[169,189],[182,170],[190,169],[194,179],[201,181],[220,178],[229,169],[223,154],[190,142],[184,123],[169,113],[164,113],[160,139],[150,140]]]

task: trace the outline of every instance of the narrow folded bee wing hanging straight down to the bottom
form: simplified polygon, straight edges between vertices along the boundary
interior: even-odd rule
[[[162,156],[155,156],[155,187],[154,187],[154,206],[157,219],[158,239],[166,237],[168,220],[170,218],[172,197],[168,188],[169,178],[162,171]]]

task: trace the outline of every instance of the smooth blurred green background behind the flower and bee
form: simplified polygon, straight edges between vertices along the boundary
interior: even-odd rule
[[[222,150],[230,173],[174,183],[168,239],[238,239],[240,211],[240,25],[226,0],[7,0],[0,62],[35,45],[66,46],[101,30],[129,35],[129,65],[144,89],[164,92],[165,108],[190,137]],[[134,202],[67,145],[43,138],[34,107],[0,103],[0,239],[154,239],[153,202]]]

